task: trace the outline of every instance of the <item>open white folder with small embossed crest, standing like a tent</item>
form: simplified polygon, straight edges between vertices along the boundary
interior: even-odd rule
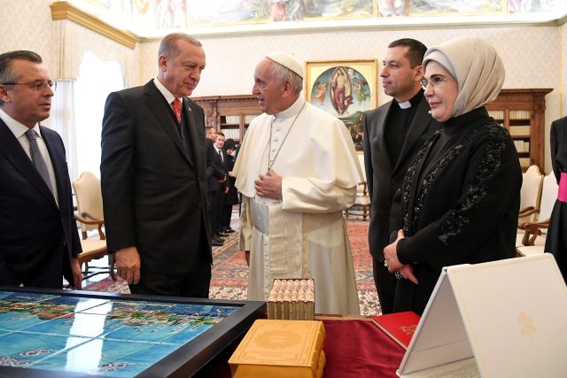
[[[443,268],[400,377],[567,377],[567,286],[545,253]]]

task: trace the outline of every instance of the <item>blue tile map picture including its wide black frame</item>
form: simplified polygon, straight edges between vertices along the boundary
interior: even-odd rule
[[[0,287],[0,375],[187,377],[265,302]]]

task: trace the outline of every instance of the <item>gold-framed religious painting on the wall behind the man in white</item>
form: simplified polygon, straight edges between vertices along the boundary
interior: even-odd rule
[[[377,59],[307,61],[305,72],[307,101],[345,122],[362,150],[364,114],[377,107]]]

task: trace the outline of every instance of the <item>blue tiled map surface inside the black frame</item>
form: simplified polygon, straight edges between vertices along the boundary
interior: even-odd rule
[[[0,366],[131,377],[235,311],[0,291]]]

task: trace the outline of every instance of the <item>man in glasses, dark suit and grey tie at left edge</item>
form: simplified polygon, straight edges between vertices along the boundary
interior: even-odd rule
[[[35,52],[0,55],[0,285],[81,288],[65,147],[39,125],[53,90]]]

